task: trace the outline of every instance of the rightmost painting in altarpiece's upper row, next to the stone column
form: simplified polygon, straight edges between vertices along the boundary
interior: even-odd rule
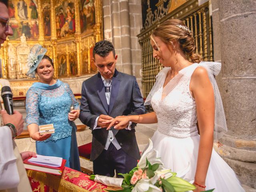
[[[95,2],[94,0],[80,1],[80,27],[81,32],[92,28],[95,24]]]

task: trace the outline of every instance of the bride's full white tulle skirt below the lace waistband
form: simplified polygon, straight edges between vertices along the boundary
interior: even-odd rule
[[[182,178],[191,183],[196,173],[199,141],[199,135],[174,138],[158,131],[152,137],[153,146],[164,166],[173,172],[182,172],[189,167]],[[212,150],[205,185],[206,190],[215,188],[214,192],[244,192],[234,171],[215,150]]]

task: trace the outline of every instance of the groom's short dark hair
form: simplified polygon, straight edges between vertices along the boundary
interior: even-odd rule
[[[113,52],[113,55],[116,56],[115,48],[113,44],[110,41],[103,40],[103,41],[97,42],[94,45],[92,55],[94,59],[95,59],[95,54],[98,54],[101,57],[106,57],[111,51]]]

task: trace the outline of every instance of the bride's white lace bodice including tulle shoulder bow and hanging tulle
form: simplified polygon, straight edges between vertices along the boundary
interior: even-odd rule
[[[214,78],[220,72],[221,64],[217,62],[200,62],[180,70],[164,88],[164,80],[170,68],[162,69],[156,76],[156,82],[144,105],[152,104],[158,118],[159,132],[178,138],[186,138],[198,134],[196,128],[196,103],[189,90],[191,76],[198,66],[202,66],[207,70],[214,90],[214,138],[219,139],[227,131],[220,91]],[[164,96],[166,97],[164,98]]]

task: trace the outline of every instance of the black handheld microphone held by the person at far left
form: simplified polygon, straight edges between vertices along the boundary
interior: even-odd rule
[[[12,107],[12,90],[9,86],[2,87],[1,96],[4,101],[4,108],[9,115],[13,114],[13,107]]]

